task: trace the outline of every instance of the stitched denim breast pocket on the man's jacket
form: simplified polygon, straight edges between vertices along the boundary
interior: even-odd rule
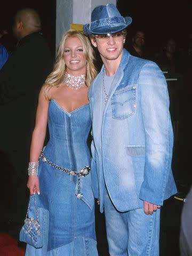
[[[115,91],[111,97],[113,118],[125,119],[135,113],[136,85],[128,85]]]

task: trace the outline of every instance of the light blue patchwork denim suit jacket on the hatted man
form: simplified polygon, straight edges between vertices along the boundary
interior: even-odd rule
[[[103,111],[103,67],[89,90],[92,114],[92,188],[106,187],[118,211],[163,205],[177,193],[172,175],[173,131],[169,94],[156,63],[125,49]]]

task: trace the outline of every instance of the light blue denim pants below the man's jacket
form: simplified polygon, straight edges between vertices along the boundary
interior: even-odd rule
[[[104,207],[110,256],[158,256],[160,209],[118,212],[105,189]]]

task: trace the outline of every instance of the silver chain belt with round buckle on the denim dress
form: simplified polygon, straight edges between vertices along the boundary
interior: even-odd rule
[[[51,162],[47,157],[45,157],[43,150],[41,151],[41,158],[42,158],[43,162],[51,165],[53,168],[60,170],[62,172],[66,172],[69,175],[77,176],[77,193],[75,195],[78,199],[80,199],[83,195],[81,193],[81,177],[85,177],[86,175],[88,175],[90,173],[90,171],[91,171],[90,166],[85,166],[81,169],[80,172],[75,172],[75,171],[66,169],[64,167],[58,166],[57,164],[54,164],[53,162]]]

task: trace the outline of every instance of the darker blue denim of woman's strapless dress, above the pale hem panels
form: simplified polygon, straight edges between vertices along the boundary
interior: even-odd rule
[[[68,113],[57,101],[51,99],[48,125],[50,139],[43,151],[46,158],[75,172],[79,172],[84,166],[90,166],[91,156],[87,146],[91,129],[89,103]],[[42,158],[39,158],[38,177],[41,194],[37,198],[37,204],[38,207],[49,210],[47,251],[67,245],[78,237],[95,241],[91,174],[81,177],[80,199],[76,196],[77,176],[55,169],[43,162]]]

